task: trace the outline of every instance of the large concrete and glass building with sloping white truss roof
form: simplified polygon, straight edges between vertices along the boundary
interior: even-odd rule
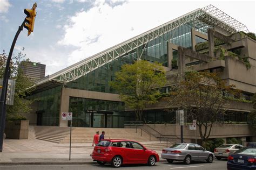
[[[223,123],[237,122],[226,125],[229,129],[238,127],[239,122],[245,124],[236,132],[218,134],[214,130],[212,137],[252,140],[254,134],[246,122],[252,110],[251,96],[256,93],[256,40],[247,33],[245,25],[212,5],[191,11],[38,80],[35,91],[28,96],[36,100],[33,114],[37,118],[31,123],[68,126],[60,115],[73,112],[73,126],[123,128],[124,122],[134,121],[134,114],[125,110],[109,81],[123,64],[143,59],[163,63],[169,80],[163,87],[165,92],[176,82],[174,75],[183,75],[189,69],[218,72],[227,84],[235,84],[242,96],[226,104],[228,114]],[[154,125],[161,126],[158,130],[163,132],[167,132],[166,124],[170,128],[176,122],[175,113],[166,111],[164,101],[147,108],[144,117],[147,122],[165,123]],[[175,127],[170,135],[176,136]],[[189,132],[184,134],[187,139],[193,138]]]

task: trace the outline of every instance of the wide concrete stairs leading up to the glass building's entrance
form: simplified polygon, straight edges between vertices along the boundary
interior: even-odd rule
[[[70,128],[58,126],[33,126],[35,138],[50,141],[53,143],[69,143]],[[166,142],[159,143],[159,139],[150,136],[140,129],[121,129],[121,128],[72,128],[72,143],[91,144],[96,131],[105,131],[105,139],[129,139],[142,143],[152,150],[162,150],[166,147]],[[168,143],[170,146],[171,144]]]

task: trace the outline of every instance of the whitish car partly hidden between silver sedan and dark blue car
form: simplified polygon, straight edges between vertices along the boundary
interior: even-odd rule
[[[228,155],[240,150],[242,147],[244,146],[238,144],[223,144],[217,148],[214,148],[214,155],[218,160],[221,158],[227,159]]]

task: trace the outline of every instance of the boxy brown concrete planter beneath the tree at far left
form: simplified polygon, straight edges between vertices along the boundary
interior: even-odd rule
[[[8,139],[28,139],[29,121],[6,121],[4,132]]]

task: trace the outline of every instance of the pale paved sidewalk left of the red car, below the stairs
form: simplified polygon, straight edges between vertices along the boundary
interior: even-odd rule
[[[33,135],[29,133],[29,139],[5,139],[0,165],[95,164],[90,157],[93,151],[90,143],[71,144],[69,160],[69,144],[38,140]]]

